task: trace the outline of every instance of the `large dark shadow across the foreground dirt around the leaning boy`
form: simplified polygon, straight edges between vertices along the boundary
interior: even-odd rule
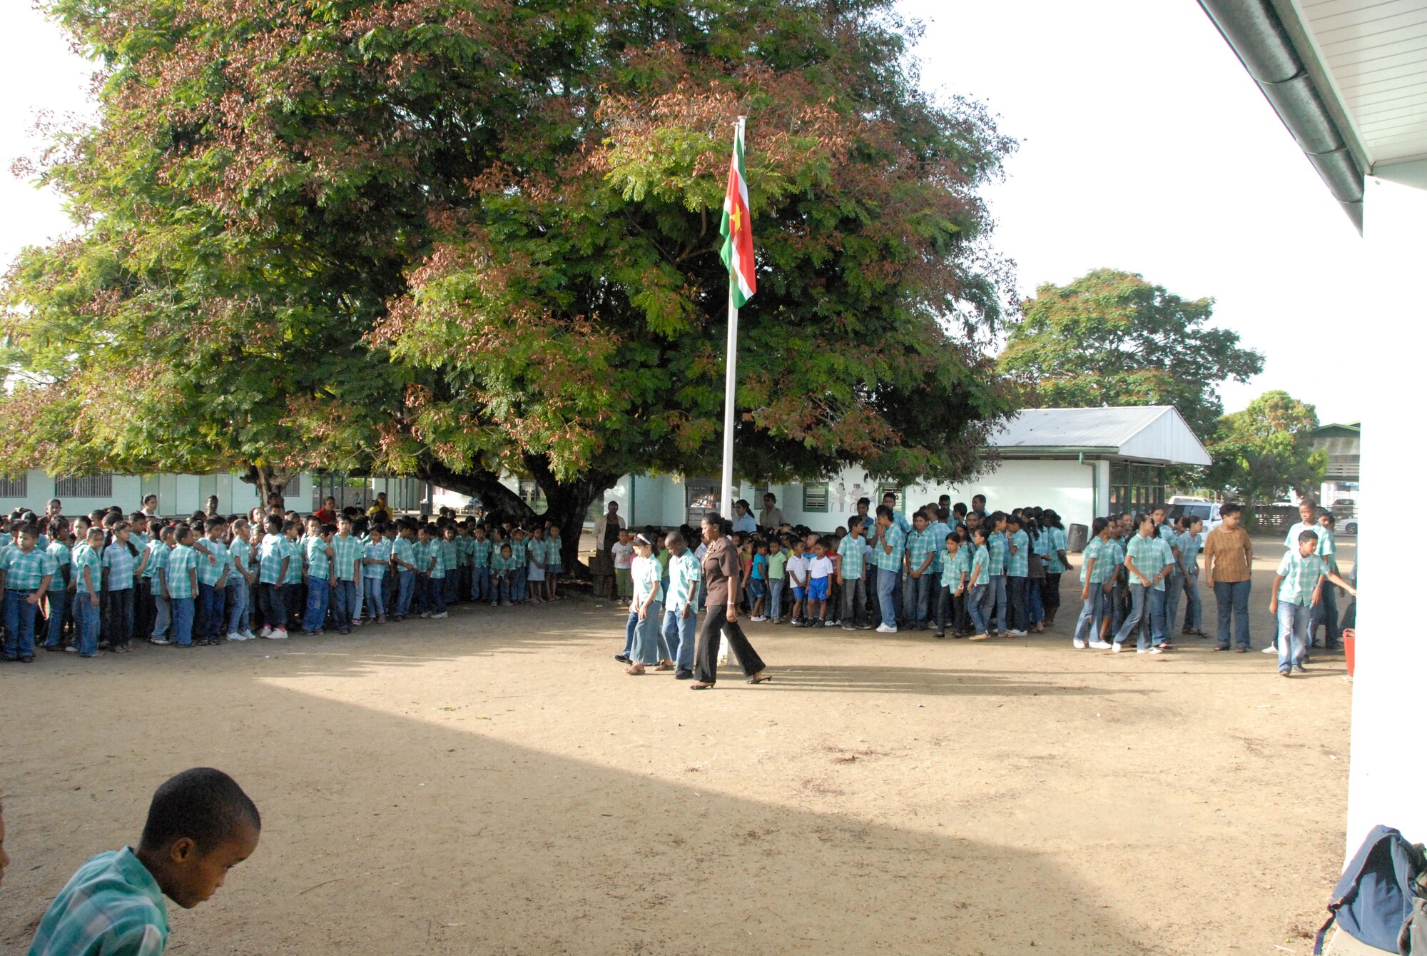
[[[4,745],[6,952],[190,765],[233,773],[264,829],[213,902],[171,907],[170,952],[1167,952],[1052,852],[960,838],[952,800],[919,829],[886,826],[742,799],[696,768],[675,783],[233,672],[173,678],[140,682],[167,692],[111,733]]]

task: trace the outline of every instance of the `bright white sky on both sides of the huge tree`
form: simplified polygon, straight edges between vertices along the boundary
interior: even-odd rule
[[[989,191],[1020,291],[1097,267],[1217,300],[1217,324],[1266,355],[1229,411],[1283,388],[1321,421],[1363,415],[1344,380],[1368,253],[1293,137],[1189,0],[903,0],[923,84],[986,101],[1022,140]],[[27,3],[0,36],[0,160],[33,153],[40,111],[87,111],[90,66]],[[59,200],[0,173],[0,261],[59,234]]]

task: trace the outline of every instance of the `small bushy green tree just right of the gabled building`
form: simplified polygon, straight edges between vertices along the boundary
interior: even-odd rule
[[[1281,501],[1289,491],[1314,494],[1327,455],[1313,451],[1319,415],[1286,391],[1259,395],[1243,411],[1224,415],[1209,444],[1214,464],[1206,481],[1234,492],[1246,505]]]

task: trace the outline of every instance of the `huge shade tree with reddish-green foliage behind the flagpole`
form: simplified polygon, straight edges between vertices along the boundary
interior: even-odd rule
[[[1012,143],[918,88],[890,0],[54,0],[101,118],[10,274],[0,467],[411,474],[574,559],[625,472],[712,469],[732,120],[758,297],[738,471],[975,471]]]

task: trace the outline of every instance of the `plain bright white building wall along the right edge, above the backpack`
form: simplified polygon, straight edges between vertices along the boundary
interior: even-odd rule
[[[1360,284],[1367,322],[1361,332],[1364,341],[1404,347],[1421,337],[1427,191],[1370,178],[1364,203],[1371,267]],[[1377,823],[1396,826],[1408,840],[1427,840],[1427,762],[1413,746],[1427,641],[1410,626],[1417,605],[1401,588],[1411,575],[1400,572],[1401,525],[1393,514],[1421,497],[1421,449],[1410,439],[1418,432],[1420,381],[1411,374],[1364,374],[1356,385],[1374,414],[1363,428],[1363,484],[1371,484],[1373,494],[1359,508],[1359,555],[1367,574],[1357,609],[1344,858]]]

